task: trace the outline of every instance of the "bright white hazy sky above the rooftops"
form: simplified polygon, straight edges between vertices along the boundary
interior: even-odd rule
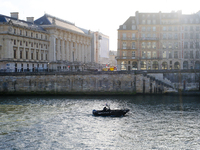
[[[199,0],[0,0],[0,14],[19,12],[19,19],[38,19],[44,13],[76,26],[108,35],[110,50],[117,50],[117,29],[139,12],[192,14],[200,10]]]

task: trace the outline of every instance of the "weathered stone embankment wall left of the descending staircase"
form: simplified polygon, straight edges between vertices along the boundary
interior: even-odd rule
[[[162,93],[167,87],[135,73],[47,73],[0,76],[0,94],[120,95]]]

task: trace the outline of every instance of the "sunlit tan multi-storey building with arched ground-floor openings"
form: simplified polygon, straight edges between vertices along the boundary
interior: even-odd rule
[[[118,29],[118,70],[200,69],[200,12],[135,13]]]

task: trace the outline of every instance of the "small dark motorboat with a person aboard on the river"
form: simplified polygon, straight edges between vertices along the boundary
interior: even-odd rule
[[[104,107],[103,110],[93,110],[92,113],[94,116],[111,116],[111,117],[121,117],[124,116],[129,109],[115,109],[111,110],[110,107]]]

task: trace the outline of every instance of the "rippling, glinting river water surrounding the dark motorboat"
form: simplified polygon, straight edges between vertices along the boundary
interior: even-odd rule
[[[110,104],[125,117],[95,117]],[[200,149],[200,98],[0,97],[0,149]]]

